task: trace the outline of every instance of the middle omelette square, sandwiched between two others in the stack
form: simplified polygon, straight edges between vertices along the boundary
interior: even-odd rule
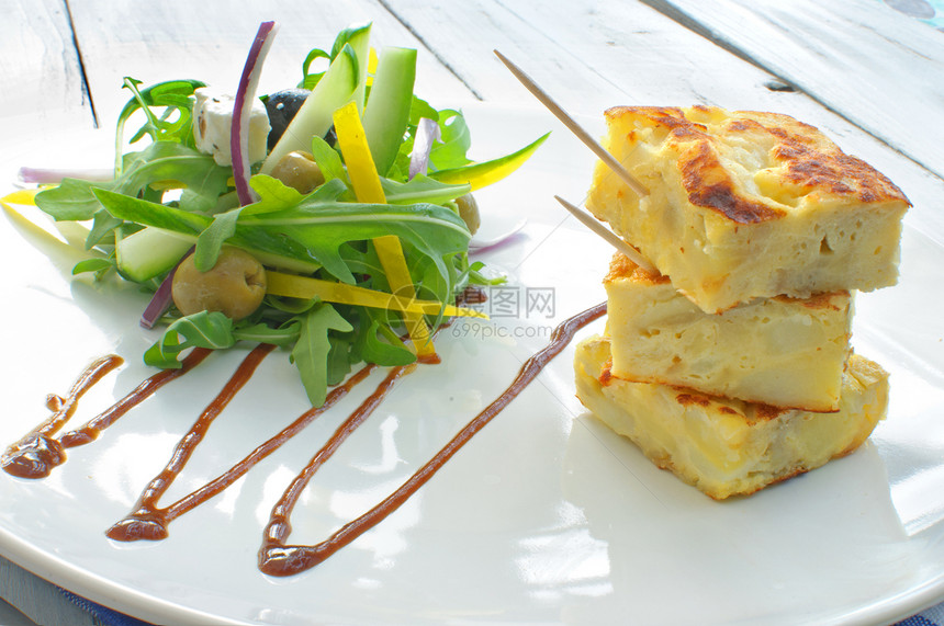
[[[782,408],[839,408],[852,332],[849,292],[706,314],[667,277],[620,253],[604,286],[614,376]]]

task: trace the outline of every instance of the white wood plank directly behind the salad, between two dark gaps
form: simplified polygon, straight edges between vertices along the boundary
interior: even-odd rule
[[[330,49],[335,35],[355,23],[372,22],[371,42],[420,49],[417,90],[434,104],[474,95],[400,22],[374,0],[321,2],[134,3],[115,9],[108,0],[71,2],[90,90],[102,119],[111,121],[128,100],[122,78],[145,83],[194,78],[235,93],[246,54],[260,22],[280,30],[266,60],[260,93],[293,87],[311,48]]]

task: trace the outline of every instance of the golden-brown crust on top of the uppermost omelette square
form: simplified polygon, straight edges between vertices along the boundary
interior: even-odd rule
[[[738,224],[757,224],[787,215],[764,198],[745,194],[722,162],[726,143],[740,139],[739,135],[748,135],[754,144],[769,144],[767,158],[779,180],[803,193],[818,192],[866,204],[902,201],[910,205],[901,190],[872,166],[844,153],[813,126],[788,115],[729,113],[709,106],[617,106],[606,112],[610,122],[622,115],[642,117],[663,129],[666,144],[678,155],[676,167],[688,201]],[[636,133],[629,135],[631,141]]]

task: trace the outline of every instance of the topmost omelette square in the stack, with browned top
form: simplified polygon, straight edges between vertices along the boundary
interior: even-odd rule
[[[814,127],[775,113],[620,106],[586,206],[706,312],[897,282],[902,192]]]

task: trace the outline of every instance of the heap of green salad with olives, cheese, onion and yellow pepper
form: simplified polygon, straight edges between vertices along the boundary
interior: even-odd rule
[[[153,293],[142,325],[162,332],[147,364],[180,367],[188,349],[240,341],[285,346],[317,407],[353,365],[435,361],[436,328],[480,316],[456,304],[495,281],[470,260],[471,192],[548,135],[471,161],[462,113],[417,96],[416,50],[373,50],[370,24],[308,53],[297,84],[257,96],[277,30],[260,26],[232,96],[126,78],[114,175],[65,178],[33,202],[87,228],[74,274]]]

